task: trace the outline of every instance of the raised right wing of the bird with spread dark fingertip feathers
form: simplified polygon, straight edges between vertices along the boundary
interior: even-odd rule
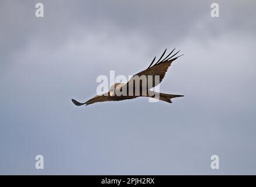
[[[153,59],[153,61],[151,62],[150,66],[144,70],[144,71],[141,71],[139,73],[137,73],[136,75],[133,75],[133,77],[130,79],[130,81],[133,81],[133,85],[134,85],[134,81],[135,79],[137,79],[138,77],[141,77],[141,75],[145,75],[146,78],[147,78],[147,82],[148,81],[151,81],[149,79],[153,79],[153,85],[152,86],[148,86],[148,89],[151,89],[151,88],[154,88],[155,86],[157,86],[158,84],[160,84],[160,82],[162,81],[162,79],[164,79],[164,76],[165,76],[165,73],[167,72],[169,66],[171,65],[171,63],[176,60],[178,57],[181,57],[181,56],[178,56],[178,57],[175,57],[175,55],[177,55],[179,53],[179,51],[175,54],[173,54],[171,56],[171,54],[174,52],[174,50],[171,51],[171,53],[168,54],[168,56],[166,56],[163,60],[162,60],[162,57],[164,57],[164,54],[166,52],[167,49],[165,49],[164,53],[162,54],[162,56],[159,58],[159,60],[153,65],[154,61],[155,61],[155,58]],[[171,57],[169,57],[171,56]],[[148,75],[152,75],[152,76],[148,76]],[[159,82],[155,81],[155,75],[159,75]],[[130,82],[129,81],[129,82]],[[128,83],[129,83],[128,82]],[[128,86],[128,85],[127,85]],[[142,82],[140,82],[140,86],[145,86],[145,85],[142,85]]]

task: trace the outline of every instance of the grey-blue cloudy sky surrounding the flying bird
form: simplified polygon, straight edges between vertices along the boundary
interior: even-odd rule
[[[255,10],[253,0],[1,1],[0,174],[256,174]],[[71,103],[96,94],[98,75],[135,74],[166,47],[185,56],[160,89],[184,98]]]

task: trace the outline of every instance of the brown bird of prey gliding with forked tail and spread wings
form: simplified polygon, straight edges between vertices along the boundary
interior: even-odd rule
[[[156,57],[154,57],[153,61],[151,62],[151,64],[148,66],[148,68],[146,70],[133,75],[133,77],[126,84],[116,83],[110,87],[109,92],[103,93],[102,95],[96,95],[94,98],[89,99],[87,102],[80,103],[78,101],[75,101],[75,99],[71,99],[72,102],[77,106],[82,106],[82,105],[87,106],[87,105],[91,105],[92,103],[96,103],[96,102],[122,101],[125,99],[138,98],[140,96],[156,98],[155,96],[158,95],[157,99],[171,103],[172,98],[178,98],[178,97],[184,96],[184,95],[173,95],[173,94],[158,93],[158,92],[150,91],[151,88],[154,88],[155,86],[160,84],[160,82],[164,78],[165,73],[167,72],[169,66],[172,64],[172,62],[175,61],[178,57],[181,57],[182,55],[184,55],[184,54],[182,54],[181,56],[175,57],[179,53],[179,51],[180,51],[179,50],[177,53],[175,53],[171,56],[171,54],[175,50],[174,49],[164,59],[162,59],[164,57],[166,50],[167,49],[165,49],[162,56],[159,58],[159,60],[154,65],[153,65],[153,63],[154,63]],[[157,76],[158,76],[158,78],[157,78],[158,81],[155,79],[155,77],[157,77]],[[151,85],[143,84],[139,80],[139,85],[138,84],[134,85],[134,82],[136,82],[136,80],[140,77],[146,77],[148,82],[151,80],[151,81],[153,81],[153,83]],[[129,85],[130,85],[130,87],[129,87]],[[116,91],[120,92],[120,91],[123,91],[124,89],[126,90],[125,93],[127,93],[127,94],[121,94],[121,95],[116,94],[115,95]],[[129,89],[132,90],[132,92],[129,92],[132,94],[128,94]],[[138,93],[138,92],[136,92],[136,89],[139,89],[139,94],[136,94],[136,93]],[[146,93],[144,92],[144,94],[142,94],[143,89],[146,89]]]

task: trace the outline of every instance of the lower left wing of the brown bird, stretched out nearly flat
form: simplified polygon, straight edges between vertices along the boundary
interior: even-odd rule
[[[107,94],[103,94],[103,95],[96,95],[94,98],[92,99],[89,99],[87,102],[85,103],[80,103],[78,101],[75,101],[75,99],[71,99],[71,101],[77,105],[77,106],[82,106],[82,105],[91,105],[93,103],[96,103],[96,102],[105,102],[105,101],[122,101],[122,100],[125,100],[125,99],[134,99],[134,98],[137,98],[137,96],[110,96],[109,95],[109,92],[108,92],[108,95]]]

